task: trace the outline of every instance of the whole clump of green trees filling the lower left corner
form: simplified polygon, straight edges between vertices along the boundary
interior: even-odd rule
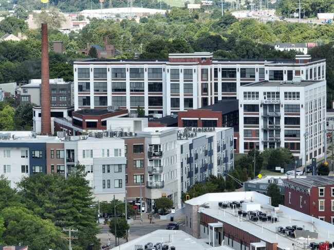
[[[73,250],[100,249],[96,238],[98,211],[85,179],[84,165],[67,178],[60,174],[24,177],[18,189],[0,177],[0,243],[28,245],[29,249],[61,250],[68,247],[63,228],[78,229]]]

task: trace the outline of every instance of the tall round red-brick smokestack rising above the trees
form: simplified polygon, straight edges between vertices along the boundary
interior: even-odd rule
[[[49,79],[48,25],[42,24],[42,135],[51,134],[50,79]]]

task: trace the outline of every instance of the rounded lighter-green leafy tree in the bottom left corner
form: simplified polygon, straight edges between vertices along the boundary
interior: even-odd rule
[[[28,245],[35,250],[66,249],[67,242],[61,238],[61,229],[50,220],[43,220],[24,207],[7,207],[0,213],[4,219],[2,239],[7,245]]]

